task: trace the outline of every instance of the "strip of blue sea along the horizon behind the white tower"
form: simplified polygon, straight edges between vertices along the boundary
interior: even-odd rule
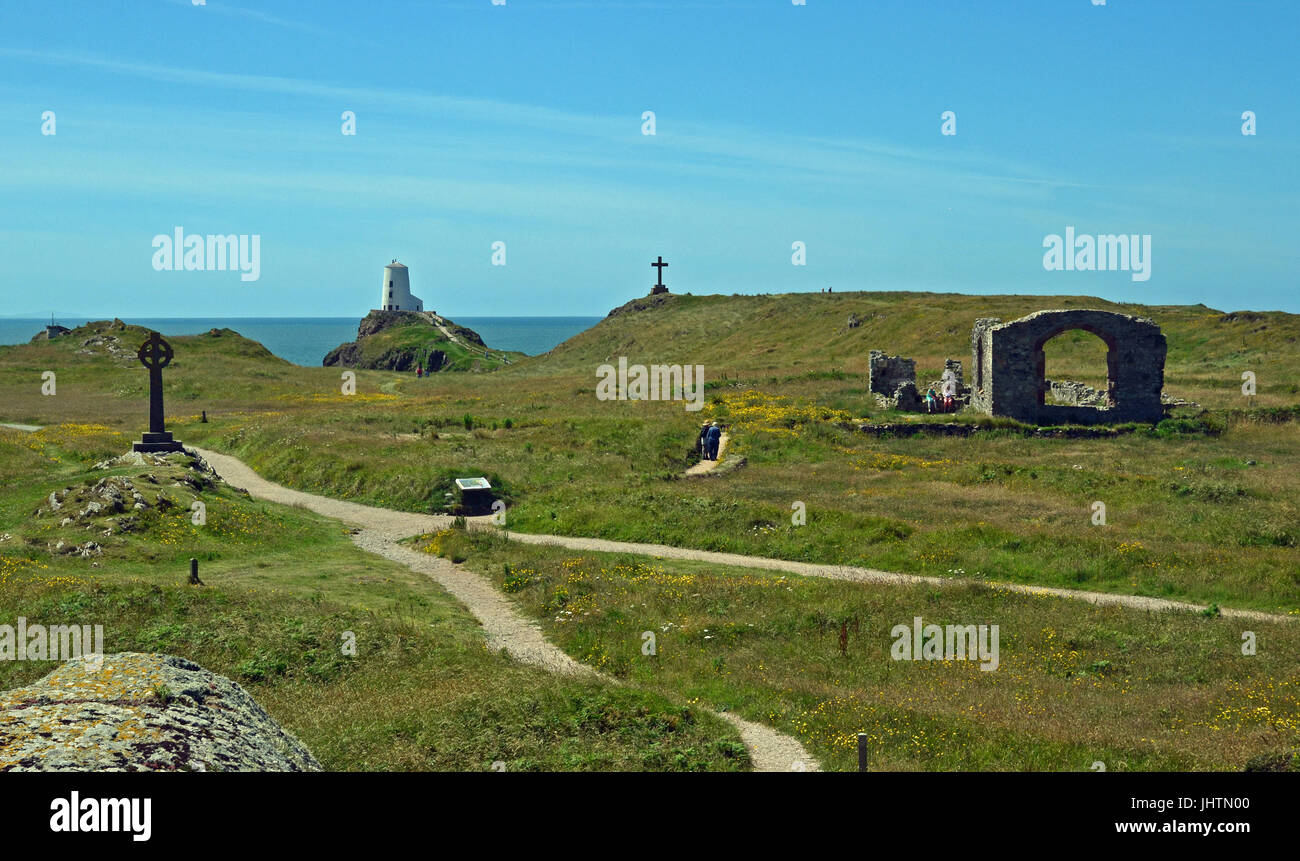
[[[538,355],[554,349],[602,317],[456,317],[455,323],[477,332],[494,350],[517,350]],[[56,317],[69,329],[87,323],[79,317]],[[26,343],[43,332],[49,319],[0,319],[0,345]],[[318,367],[325,354],[356,339],[358,317],[124,317],[124,323],[155,329],[164,336],[202,334],[208,329],[234,329],[260,342],[281,359]]]

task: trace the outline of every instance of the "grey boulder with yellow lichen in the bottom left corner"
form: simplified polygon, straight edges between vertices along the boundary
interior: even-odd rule
[[[94,661],[0,693],[0,771],[321,770],[225,676],[169,654]]]

